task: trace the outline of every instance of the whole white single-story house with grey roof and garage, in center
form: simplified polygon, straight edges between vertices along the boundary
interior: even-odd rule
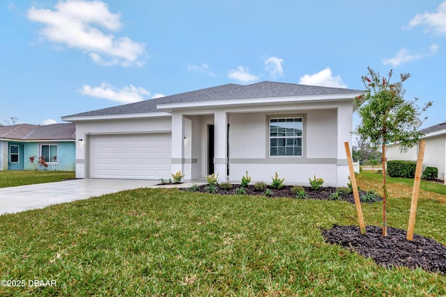
[[[203,90],[63,117],[76,124],[79,178],[185,180],[345,186],[353,99],[362,90],[263,81]]]

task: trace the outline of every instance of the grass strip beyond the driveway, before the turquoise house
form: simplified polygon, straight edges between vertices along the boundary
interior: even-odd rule
[[[25,184],[59,182],[63,179],[74,177],[74,171],[1,170],[0,188],[23,186]]]

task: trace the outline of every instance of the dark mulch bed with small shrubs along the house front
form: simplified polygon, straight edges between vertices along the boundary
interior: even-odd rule
[[[207,185],[198,186],[197,192],[206,193],[206,186]],[[237,195],[237,189],[240,187],[241,187],[240,184],[233,184],[232,188],[230,188],[229,190],[224,190],[219,187],[217,194]],[[273,193],[272,196],[268,196],[268,197],[270,197],[270,198],[279,198],[279,197],[295,198],[293,193],[291,193],[292,187],[293,186],[283,186],[282,188],[279,188],[279,189],[268,187]],[[316,199],[316,200],[328,200],[328,197],[330,196],[330,194],[337,191],[337,188],[330,187],[330,186],[324,186],[324,187],[318,188],[317,190],[313,190],[309,186],[304,186],[302,188],[304,188],[305,192],[307,192],[308,199]],[[185,189],[183,188],[183,190],[185,190]],[[365,194],[364,191],[360,191],[360,195],[364,195],[364,194]],[[245,187],[245,195],[265,195],[265,191],[257,191],[254,188],[254,186],[246,186]],[[341,200],[355,204],[355,198],[353,197],[353,193],[344,195],[341,198]],[[382,200],[382,198],[378,199],[378,201],[379,200]]]

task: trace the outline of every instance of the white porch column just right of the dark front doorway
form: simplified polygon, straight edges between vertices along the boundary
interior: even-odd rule
[[[228,143],[228,119],[226,111],[214,113],[214,171],[219,182],[226,182],[228,154],[226,152]]]

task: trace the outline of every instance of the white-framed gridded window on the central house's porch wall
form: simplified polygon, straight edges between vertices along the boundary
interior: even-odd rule
[[[302,118],[270,118],[270,156],[302,156]]]

